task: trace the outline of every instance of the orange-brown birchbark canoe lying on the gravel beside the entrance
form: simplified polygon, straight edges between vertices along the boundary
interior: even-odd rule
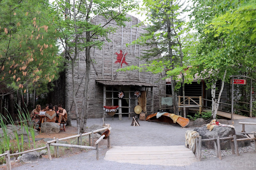
[[[146,117],[146,121],[154,121],[154,122],[164,122],[164,123],[174,123],[172,118],[170,118],[170,113],[164,113],[158,119],[156,118],[156,114],[151,114]],[[181,127],[186,127],[189,123],[188,118],[179,117],[176,121]]]

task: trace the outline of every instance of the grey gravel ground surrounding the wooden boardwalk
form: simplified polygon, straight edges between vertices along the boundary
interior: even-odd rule
[[[240,119],[234,121],[237,132],[242,130],[242,125],[238,122],[255,122],[255,118]],[[107,118],[105,123],[109,123],[111,130],[112,146],[177,146],[185,144],[186,130],[193,130],[194,127],[181,128],[179,125],[168,125],[156,122],[140,121],[139,127],[130,126],[132,119],[123,117],[122,121],[115,117],[114,120]],[[76,121],[72,121],[76,126]],[[102,125],[102,119],[88,119],[87,126],[98,124]],[[232,124],[230,122],[230,124]],[[256,131],[256,126],[245,125],[247,132]],[[96,160],[95,150],[88,150],[81,154],[75,154],[66,158],[53,158],[51,161],[47,158],[40,159],[36,164],[24,164],[13,168],[14,170],[35,170],[35,169],[111,169],[111,170],[153,170],[153,169],[173,169],[173,170],[201,170],[208,168],[224,168],[233,170],[244,168],[246,170],[256,169],[256,153],[254,152],[254,143],[251,146],[239,148],[240,156],[231,154],[230,150],[222,150],[222,160],[216,158],[214,150],[202,150],[202,161],[195,162],[190,166],[156,166],[118,163],[104,160],[107,146],[106,140],[104,145],[99,147],[99,160]]]

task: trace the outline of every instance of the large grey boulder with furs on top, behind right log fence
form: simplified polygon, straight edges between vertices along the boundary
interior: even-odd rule
[[[210,139],[213,138],[214,136],[217,137],[219,136],[220,138],[223,137],[228,137],[228,135],[236,134],[236,131],[232,127],[214,127],[212,131],[209,131],[206,129],[206,126],[200,127],[200,128],[195,128],[195,131],[197,131],[200,136],[202,136],[202,139]],[[236,138],[246,138],[245,135],[243,134],[237,134]],[[238,147],[243,147],[243,146],[249,146],[250,145],[250,140],[246,141],[240,141],[238,142]],[[206,141],[202,142],[202,146],[208,149],[214,149],[214,142],[213,141]],[[220,149],[230,149],[230,142],[229,140],[220,140]]]

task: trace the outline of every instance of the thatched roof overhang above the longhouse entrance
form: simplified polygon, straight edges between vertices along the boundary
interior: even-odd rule
[[[158,87],[158,85],[153,85],[146,83],[145,81],[128,81],[128,80],[103,80],[96,79],[98,84],[105,86],[140,86],[140,87]]]

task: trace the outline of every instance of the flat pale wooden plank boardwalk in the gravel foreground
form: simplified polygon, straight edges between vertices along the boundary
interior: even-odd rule
[[[185,146],[112,146],[105,160],[130,164],[186,166],[197,159]]]

